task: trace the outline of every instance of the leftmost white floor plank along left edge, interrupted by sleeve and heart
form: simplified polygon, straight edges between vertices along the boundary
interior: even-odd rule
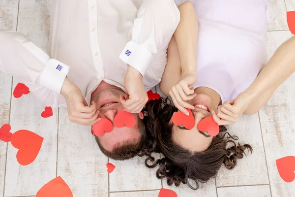
[[[16,30],[18,0],[0,1],[0,29]],[[1,44],[1,43],[0,43]],[[12,76],[0,71],[0,127],[9,123]],[[4,192],[7,143],[0,141],[0,196]]]

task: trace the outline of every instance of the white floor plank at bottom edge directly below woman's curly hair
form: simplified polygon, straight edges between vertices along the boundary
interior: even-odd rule
[[[207,183],[200,183],[198,190],[192,190],[187,185],[181,184],[179,187],[168,186],[166,179],[163,180],[163,188],[173,190],[177,197],[216,197],[215,180],[211,178]]]

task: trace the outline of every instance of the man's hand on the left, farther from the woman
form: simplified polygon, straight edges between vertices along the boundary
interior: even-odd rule
[[[93,125],[100,120],[100,118],[97,118],[99,111],[96,110],[95,102],[91,102],[89,107],[81,90],[67,77],[63,82],[60,93],[66,100],[68,116],[72,123]]]

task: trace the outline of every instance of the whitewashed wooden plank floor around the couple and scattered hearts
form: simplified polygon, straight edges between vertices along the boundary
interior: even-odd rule
[[[292,34],[286,11],[295,10],[295,0],[269,0],[271,23],[268,26],[268,51]],[[249,13],[250,14],[250,13]],[[50,0],[0,0],[0,29],[19,31],[40,47],[46,48],[49,35]],[[1,44],[1,43],[0,43]],[[155,176],[155,169],[144,166],[143,158],[118,162],[98,149],[89,127],[69,122],[66,109],[54,110],[43,119],[44,110],[31,94],[11,97],[16,78],[0,72],[0,126],[9,123],[12,132],[26,129],[44,137],[36,160],[21,166],[17,150],[0,142],[0,197],[34,197],[47,182],[61,176],[74,197],[157,197],[169,188],[178,197],[295,197],[295,181],[285,183],[275,160],[295,156],[295,75],[281,85],[259,113],[242,117],[230,133],[249,143],[254,154],[238,162],[234,170],[221,168],[216,178],[198,191],[187,186],[169,187]],[[108,174],[106,164],[116,165]]]

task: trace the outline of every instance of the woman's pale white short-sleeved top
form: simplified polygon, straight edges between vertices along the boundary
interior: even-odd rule
[[[193,87],[213,89],[222,102],[235,99],[267,62],[267,1],[190,1],[199,21],[198,81]]]

